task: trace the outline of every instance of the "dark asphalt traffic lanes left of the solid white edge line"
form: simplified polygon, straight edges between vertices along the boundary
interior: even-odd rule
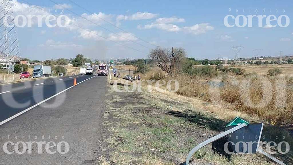
[[[65,76],[0,85],[0,122],[91,76]]]

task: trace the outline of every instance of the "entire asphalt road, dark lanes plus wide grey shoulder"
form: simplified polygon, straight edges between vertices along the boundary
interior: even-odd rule
[[[0,164],[97,164],[107,77],[73,78],[0,85],[1,121],[42,102],[0,125]]]

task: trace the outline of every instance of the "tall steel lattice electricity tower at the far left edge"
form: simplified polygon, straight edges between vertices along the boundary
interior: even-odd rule
[[[0,65],[8,74],[13,72],[15,64],[21,64],[16,27],[14,25],[11,0],[0,0]]]

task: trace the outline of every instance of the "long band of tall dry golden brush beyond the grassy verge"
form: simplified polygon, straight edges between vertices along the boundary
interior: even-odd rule
[[[223,75],[219,88],[212,88],[210,78],[190,77],[190,75],[170,76],[161,70],[151,70],[143,76],[145,80],[177,80],[179,89],[176,92],[186,97],[200,97],[204,101],[219,100],[234,105],[237,111],[252,116],[259,116],[271,123],[293,123],[293,78],[285,77],[285,84],[280,86],[278,77],[259,76],[251,73],[236,78]],[[279,86],[277,89],[276,84]],[[174,89],[174,83],[171,83]],[[248,86],[249,85],[249,86]],[[212,90],[211,90],[212,89]],[[214,90],[219,90],[218,94]],[[214,99],[218,97],[218,99]],[[265,100],[265,101],[264,101]],[[285,100],[284,107],[277,102]]]

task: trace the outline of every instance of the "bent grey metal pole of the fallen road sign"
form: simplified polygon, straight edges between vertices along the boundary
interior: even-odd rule
[[[197,145],[196,147],[194,147],[194,148],[189,152],[189,154],[188,154],[188,156],[187,156],[187,158],[186,158],[186,165],[189,165],[189,161],[190,161],[191,156],[192,156],[196,151],[198,151],[199,149],[201,149],[202,147],[205,147],[206,145],[208,145],[208,144],[210,144],[210,143],[212,143],[212,142],[215,142],[215,141],[221,139],[222,137],[225,137],[225,136],[231,134],[232,132],[235,132],[235,131],[237,131],[238,129],[241,129],[241,128],[246,127],[246,126],[248,126],[248,124],[246,124],[246,123],[242,123],[242,124],[240,124],[240,125],[238,125],[238,126],[236,126],[236,127],[234,127],[234,128],[231,128],[231,129],[229,129],[229,130],[227,130],[227,131],[225,131],[225,132],[223,132],[223,133],[221,133],[221,134],[218,134],[218,135],[215,136],[215,137],[212,137],[212,138],[210,138],[210,139],[208,139],[208,140],[206,140],[206,141],[200,143],[199,145]],[[276,163],[278,163],[278,164],[280,164],[280,165],[286,165],[286,164],[284,164],[282,161],[280,161],[280,160],[274,158],[273,156],[271,156],[270,154],[264,152],[264,151],[263,151],[262,149],[260,149],[260,148],[258,148],[257,151],[258,151],[258,153],[267,156],[268,158],[272,159],[273,161],[275,161]]]

